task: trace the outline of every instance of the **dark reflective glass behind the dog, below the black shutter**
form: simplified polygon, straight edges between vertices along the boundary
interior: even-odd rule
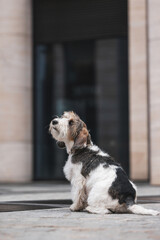
[[[128,172],[126,39],[37,44],[35,62],[35,178],[64,178],[66,153],[45,127],[68,110]]]

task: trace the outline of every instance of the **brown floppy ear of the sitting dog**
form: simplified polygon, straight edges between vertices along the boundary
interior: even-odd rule
[[[90,135],[87,128],[83,127],[76,139],[74,140],[74,145],[71,149],[71,152],[74,152],[76,149],[81,149],[87,146],[90,143]]]

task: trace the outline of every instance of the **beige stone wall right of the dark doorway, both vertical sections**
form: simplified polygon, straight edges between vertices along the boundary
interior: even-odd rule
[[[160,1],[129,0],[130,170],[160,184]]]

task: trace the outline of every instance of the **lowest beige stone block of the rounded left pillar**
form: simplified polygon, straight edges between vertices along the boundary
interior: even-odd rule
[[[29,143],[0,144],[0,182],[28,182],[32,179],[32,146]]]

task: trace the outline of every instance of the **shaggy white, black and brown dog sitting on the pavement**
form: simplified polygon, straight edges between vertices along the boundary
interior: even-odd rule
[[[69,155],[63,170],[71,182],[71,211],[159,214],[136,204],[136,186],[119,163],[93,144],[86,124],[76,113],[64,112],[54,118],[49,131]]]

